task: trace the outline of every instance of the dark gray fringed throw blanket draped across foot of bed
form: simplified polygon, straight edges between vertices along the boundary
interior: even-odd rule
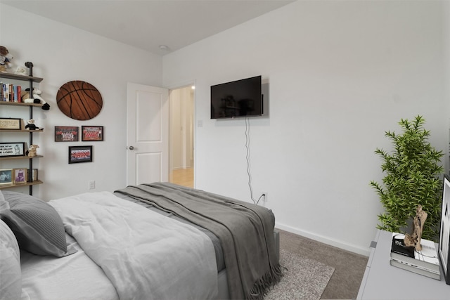
[[[130,185],[115,193],[171,211],[217,235],[231,299],[263,299],[281,279],[269,209],[172,183]]]

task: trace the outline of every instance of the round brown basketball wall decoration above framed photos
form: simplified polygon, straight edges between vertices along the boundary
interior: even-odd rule
[[[56,103],[64,115],[77,120],[96,117],[103,107],[101,93],[85,81],[69,81],[56,94]]]

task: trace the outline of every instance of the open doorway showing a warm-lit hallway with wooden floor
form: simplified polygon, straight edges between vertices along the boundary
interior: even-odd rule
[[[169,182],[194,187],[194,89],[169,92]]]

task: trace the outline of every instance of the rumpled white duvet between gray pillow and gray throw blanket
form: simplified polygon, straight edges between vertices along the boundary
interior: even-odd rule
[[[101,266],[120,299],[217,296],[214,247],[200,230],[109,192],[49,204],[60,214],[65,230]]]

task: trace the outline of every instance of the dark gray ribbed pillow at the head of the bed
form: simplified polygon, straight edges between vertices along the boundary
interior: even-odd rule
[[[63,221],[50,204],[23,193],[1,193],[9,209],[1,210],[0,218],[13,231],[20,249],[57,257],[76,252],[75,248],[68,252]]]

